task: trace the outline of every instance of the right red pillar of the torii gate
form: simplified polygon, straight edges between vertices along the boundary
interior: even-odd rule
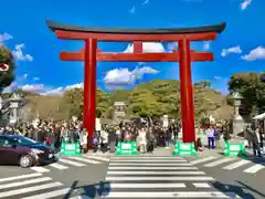
[[[180,53],[180,92],[181,92],[181,121],[183,143],[195,142],[194,105],[191,77],[190,41],[179,41]]]

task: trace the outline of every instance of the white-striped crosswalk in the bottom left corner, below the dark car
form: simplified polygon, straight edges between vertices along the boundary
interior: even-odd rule
[[[6,199],[49,199],[64,198],[71,191],[64,184],[34,172],[15,177],[0,178],[0,198]]]

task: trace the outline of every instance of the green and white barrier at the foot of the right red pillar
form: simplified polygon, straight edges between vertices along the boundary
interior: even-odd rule
[[[173,156],[197,156],[194,143],[174,143]]]

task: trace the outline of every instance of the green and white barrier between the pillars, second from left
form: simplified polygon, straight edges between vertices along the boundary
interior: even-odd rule
[[[119,142],[115,155],[117,156],[139,155],[136,147],[136,142],[129,142],[129,143]]]

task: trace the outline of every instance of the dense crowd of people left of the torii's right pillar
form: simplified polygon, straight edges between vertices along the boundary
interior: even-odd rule
[[[100,130],[95,132],[92,143],[95,153],[107,151],[110,140],[115,140],[116,146],[119,142],[136,142],[141,153],[152,153],[155,147],[169,147],[177,140],[180,125],[177,122],[170,123],[167,128],[159,122],[152,125],[147,122],[121,122],[118,125],[102,125]],[[1,127],[1,133],[23,135],[55,149],[60,149],[62,142],[80,142],[83,153],[87,151],[88,132],[76,118],[56,123],[35,119],[26,124]]]

